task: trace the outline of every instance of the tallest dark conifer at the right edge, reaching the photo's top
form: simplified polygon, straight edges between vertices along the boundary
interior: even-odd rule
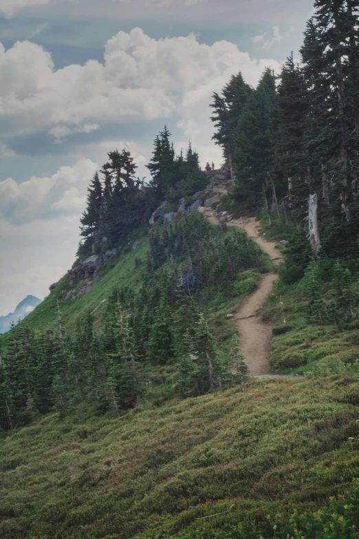
[[[358,240],[358,6],[357,0],[316,0],[301,50],[310,88],[311,187],[323,192],[324,233],[347,222],[352,244]]]

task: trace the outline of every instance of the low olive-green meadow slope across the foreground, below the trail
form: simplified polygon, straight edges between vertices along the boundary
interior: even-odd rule
[[[358,394],[358,377],[250,381],[120,419],[46,416],[1,444],[0,537],[285,537],[294,507],[359,476]]]

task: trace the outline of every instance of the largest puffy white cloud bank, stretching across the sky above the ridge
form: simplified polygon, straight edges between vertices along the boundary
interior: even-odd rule
[[[194,94],[205,95],[239,70],[256,83],[265,65],[279,67],[228,41],[204,45],[194,34],[155,40],[140,28],[109,39],[103,64],[89,60],[61,70],[35,43],[17,42],[7,51],[1,45],[0,116],[16,118],[23,133],[47,129],[61,142],[105,123],[171,117]]]

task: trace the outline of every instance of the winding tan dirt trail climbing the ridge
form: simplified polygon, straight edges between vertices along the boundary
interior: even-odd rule
[[[205,211],[204,216],[211,224],[219,224],[214,211]],[[227,223],[229,226],[241,226],[248,237],[252,238],[261,249],[272,259],[273,264],[279,264],[281,256],[274,242],[266,241],[259,235],[259,224],[250,218],[245,224]],[[268,370],[268,355],[270,354],[270,339],[272,324],[265,323],[258,311],[272,292],[273,283],[278,280],[276,273],[261,275],[257,288],[252,292],[235,313],[235,324],[241,337],[241,351],[246,357],[246,363],[253,377],[263,377]],[[269,375],[278,377],[277,375]]]

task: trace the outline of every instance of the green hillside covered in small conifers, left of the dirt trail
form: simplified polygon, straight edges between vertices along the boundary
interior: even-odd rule
[[[82,403],[118,417],[146,399],[230,387],[235,326],[221,309],[246,297],[265,264],[243,231],[191,213],[155,226],[149,244],[129,249],[82,298],[65,299],[65,278],[37,313],[39,320],[52,310],[52,324],[34,331],[34,313],[7,336],[0,427],[12,430],[52,410],[66,415]],[[239,370],[241,383],[247,373]]]

